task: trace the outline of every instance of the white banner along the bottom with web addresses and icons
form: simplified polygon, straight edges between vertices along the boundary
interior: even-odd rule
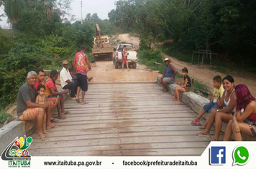
[[[1,155],[0,168],[256,168],[256,142],[211,142],[198,157],[40,157],[11,145]]]

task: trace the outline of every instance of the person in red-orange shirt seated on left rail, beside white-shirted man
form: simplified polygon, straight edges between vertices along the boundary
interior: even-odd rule
[[[68,93],[68,90],[64,90],[63,92],[59,92],[56,87],[56,80],[59,77],[59,72],[56,69],[53,69],[50,72],[50,77],[45,81],[45,97],[48,98],[58,98],[58,119],[66,119],[65,114],[69,114],[70,112],[64,110],[64,98],[63,94]],[[61,110],[61,111],[60,111]]]

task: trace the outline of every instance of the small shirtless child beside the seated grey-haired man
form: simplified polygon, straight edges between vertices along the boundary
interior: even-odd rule
[[[37,92],[38,92],[38,95],[37,95],[37,98],[35,100],[35,103],[37,103],[37,104],[45,104],[45,102],[47,102],[46,97],[45,97],[45,86],[42,85],[42,84],[39,84],[38,87],[37,87]],[[44,115],[44,120],[43,120],[43,123],[42,123],[42,128],[43,128],[43,132],[45,134],[48,134],[48,132],[46,131],[46,113]]]

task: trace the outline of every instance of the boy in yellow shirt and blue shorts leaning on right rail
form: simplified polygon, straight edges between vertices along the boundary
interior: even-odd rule
[[[204,113],[206,112],[211,112],[211,110],[213,109],[218,109],[217,105],[216,105],[216,101],[222,97],[222,94],[224,92],[223,86],[222,86],[222,82],[221,82],[221,77],[218,75],[216,77],[214,77],[213,82],[214,82],[214,92],[213,95],[211,97],[211,100],[209,103],[207,103],[206,105],[204,105],[203,109],[201,110],[201,112],[199,113],[199,115],[191,122],[191,125],[198,125],[200,126],[201,124],[200,122],[200,118],[204,115]],[[204,125],[202,125],[201,127],[199,127],[200,129],[204,129],[207,126],[207,122],[208,120],[206,120],[206,122],[204,123]]]

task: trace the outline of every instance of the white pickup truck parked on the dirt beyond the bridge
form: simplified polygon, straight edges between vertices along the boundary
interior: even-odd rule
[[[135,47],[132,43],[126,43],[126,42],[120,42],[118,44],[117,49],[114,49],[114,59],[113,63],[115,65],[115,68],[117,69],[119,65],[122,66],[122,50],[124,48],[124,45],[127,46],[127,59],[128,59],[128,66],[132,65],[133,69],[136,69],[137,67],[137,59],[138,59],[138,54],[135,51]],[[124,64],[126,65],[126,64]]]

